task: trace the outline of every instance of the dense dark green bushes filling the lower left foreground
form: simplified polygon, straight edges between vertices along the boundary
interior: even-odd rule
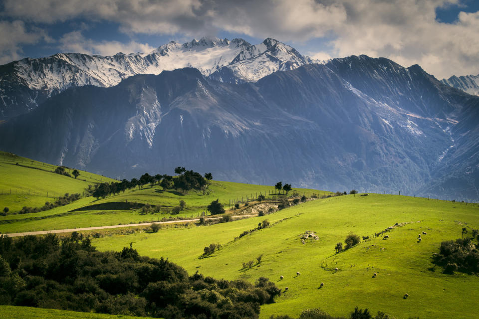
[[[0,237],[0,304],[170,318],[257,318],[280,290],[187,272],[130,245],[98,252],[77,233]]]

